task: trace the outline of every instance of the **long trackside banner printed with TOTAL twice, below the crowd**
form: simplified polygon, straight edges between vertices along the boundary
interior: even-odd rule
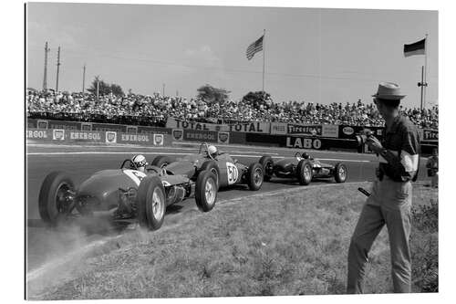
[[[170,129],[182,129],[193,131],[237,131],[249,133],[269,133],[269,122],[237,122],[233,124],[216,124],[208,122],[182,121],[169,118],[166,127]]]

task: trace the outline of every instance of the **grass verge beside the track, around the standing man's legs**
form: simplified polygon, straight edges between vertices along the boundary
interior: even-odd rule
[[[173,218],[157,232],[125,234],[79,258],[65,279],[29,299],[345,293],[347,246],[366,199],[358,186],[368,183],[247,197]],[[436,291],[438,194],[417,184],[413,196],[413,289]],[[383,229],[370,252],[366,291],[391,292],[391,285]]]

